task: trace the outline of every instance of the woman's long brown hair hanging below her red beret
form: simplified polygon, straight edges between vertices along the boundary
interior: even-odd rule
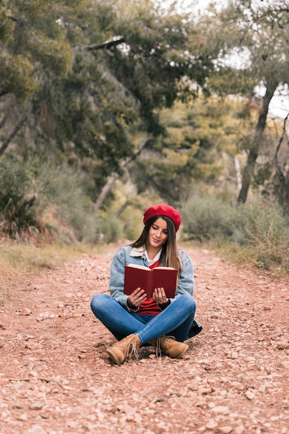
[[[143,232],[141,232],[141,236],[131,244],[132,247],[139,248],[143,245],[147,245],[148,243],[148,232],[150,231],[150,227],[155,220],[158,218],[163,218],[166,221],[167,230],[168,230],[168,238],[166,239],[166,243],[162,246],[161,257],[159,259],[160,265],[164,267],[173,267],[177,268],[177,270],[181,271],[181,261],[179,260],[179,254],[177,252],[177,240],[175,238],[175,225],[171,218],[166,216],[155,216],[150,218],[146,222],[145,227],[143,227]]]

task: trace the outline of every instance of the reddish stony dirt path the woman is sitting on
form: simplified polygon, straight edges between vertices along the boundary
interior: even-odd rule
[[[182,360],[108,361],[89,302],[115,248],[0,294],[0,433],[289,433],[288,279],[186,251],[204,329]]]

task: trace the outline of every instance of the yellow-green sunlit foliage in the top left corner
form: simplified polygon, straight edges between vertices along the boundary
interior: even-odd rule
[[[73,54],[64,41],[59,8],[56,1],[35,0],[1,6],[0,96],[12,93],[24,101],[37,93],[46,76],[69,71]]]

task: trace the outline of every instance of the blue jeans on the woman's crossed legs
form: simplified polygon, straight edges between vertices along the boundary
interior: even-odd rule
[[[110,295],[100,293],[91,300],[91,310],[118,340],[134,333],[139,336],[141,345],[163,335],[183,342],[189,338],[195,300],[189,294],[182,294],[158,315],[139,315],[123,309]]]

